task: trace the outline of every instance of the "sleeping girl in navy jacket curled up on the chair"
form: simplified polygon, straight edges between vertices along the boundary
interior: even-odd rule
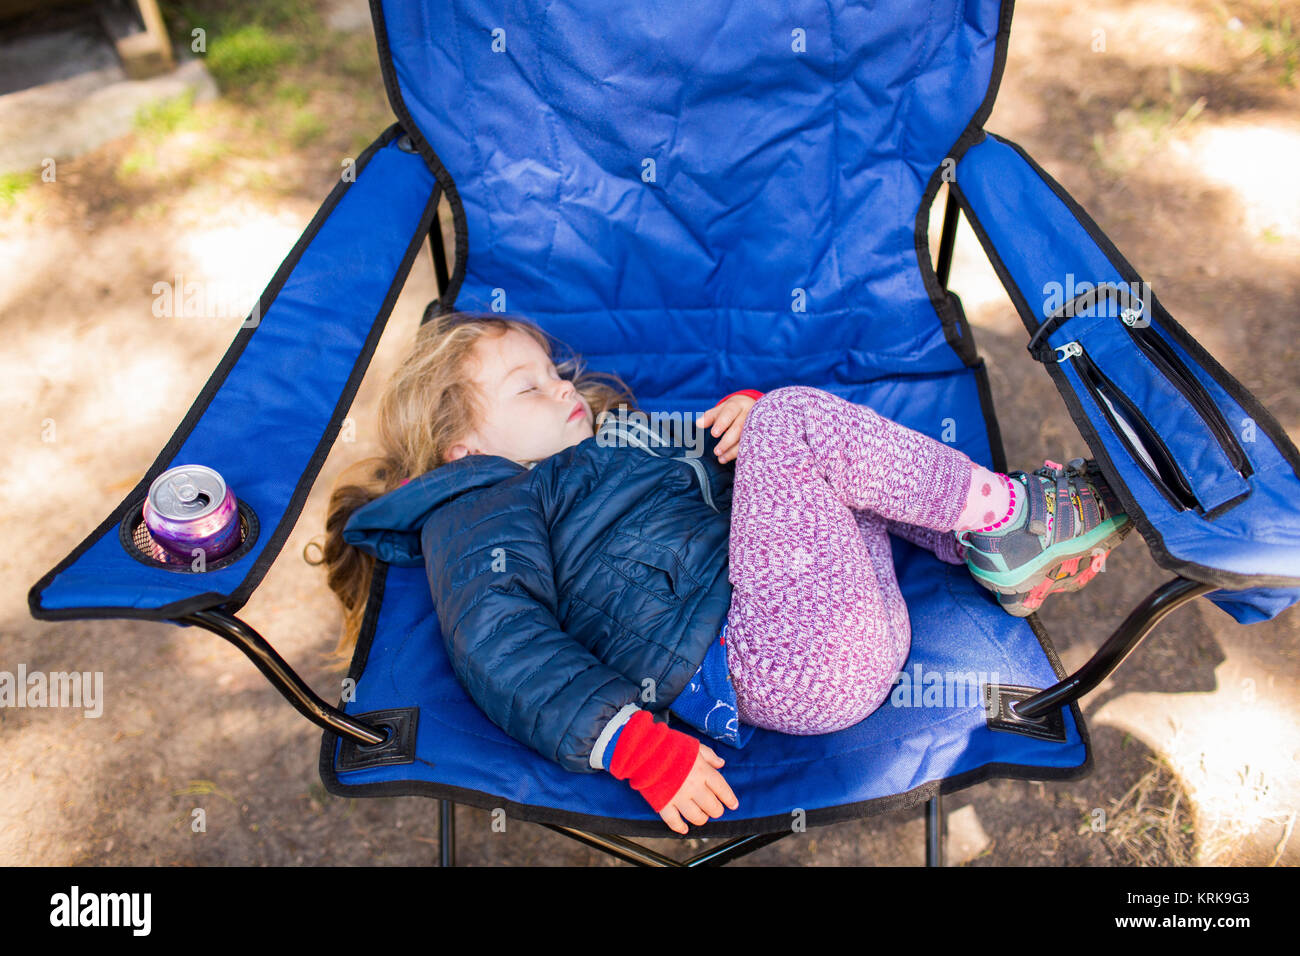
[[[374,559],[422,563],[486,715],[568,770],[627,780],[679,834],[740,804],[668,711],[744,748],[757,727],[850,727],[889,696],[911,646],[889,532],[1023,617],[1087,584],[1131,528],[1092,462],[993,472],[803,385],[734,392],[664,433],[620,380],[554,354],[523,319],[420,328],[381,399],[382,457],[330,499],[339,650]]]

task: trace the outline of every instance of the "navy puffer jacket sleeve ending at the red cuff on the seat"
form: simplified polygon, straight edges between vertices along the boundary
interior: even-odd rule
[[[560,628],[549,525],[538,498],[515,492],[469,496],[424,525],[443,643],[493,723],[566,770],[597,773],[598,737],[641,688]]]

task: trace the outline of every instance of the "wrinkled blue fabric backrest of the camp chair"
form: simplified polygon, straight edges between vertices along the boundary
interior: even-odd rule
[[[928,207],[1010,0],[372,7],[394,109],[456,187],[458,308],[651,395],[961,367]]]

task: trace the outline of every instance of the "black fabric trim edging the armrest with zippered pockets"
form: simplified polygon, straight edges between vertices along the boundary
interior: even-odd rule
[[[1097,243],[1097,246],[1108,256],[1108,259],[1110,259],[1112,265],[1115,267],[1115,271],[1119,273],[1123,282],[1126,284],[1141,282],[1141,277],[1136,273],[1136,271],[1134,271],[1132,265],[1130,265],[1128,261],[1119,254],[1114,243],[1106,237],[1105,233],[1101,232],[1101,229],[1092,220],[1092,217],[1088,216],[1088,213],[1083,209],[1083,207],[1079,206],[1079,203],[1076,203],[1074,198],[1070,196],[1070,194],[1066,193],[1065,189],[1062,189],[1062,186],[1043,169],[1043,166],[1035,163],[1034,159],[1024,152],[1024,150],[1022,150],[1019,146],[1010,142],[1009,139],[998,137],[994,133],[989,133],[988,135],[996,139],[997,142],[1004,143],[1005,146],[1015,150],[1015,152],[1024,160],[1024,163],[1031,169],[1034,169],[1035,173],[1037,173],[1037,176],[1043,179],[1043,182],[1046,183],[1046,186],[1052,189],[1052,191],[1057,195],[1057,198],[1060,198],[1061,202],[1066,204],[1066,208],[1070,209],[1071,215],[1074,215],[1074,217],[1079,221],[1079,225],[1083,226],[1084,232],[1088,233],[1089,238],[1092,238],[1092,241]],[[984,247],[984,254],[988,256],[989,264],[993,267],[993,272],[997,273],[998,280],[1006,289],[1006,293],[1010,297],[1013,304],[1015,306],[1015,311],[1019,313],[1020,321],[1024,324],[1026,330],[1030,333],[1030,336],[1032,336],[1037,330],[1041,323],[1041,317],[1022,295],[1020,289],[1017,285],[1014,277],[1006,268],[1006,264],[1002,261],[1001,256],[997,254],[997,247],[993,245],[993,241],[989,238],[988,232],[984,229],[984,225],[979,221],[979,217],[975,215],[970,199],[962,193],[961,187],[956,182],[949,183],[949,189],[953,190],[953,194],[961,203],[962,212],[966,213],[966,219],[970,222],[971,229],[979,238],[980,245]],[[1174,317],[1169,315],[1165,307],[1160,303],[1160,299],[1156,298],[1154,293],[1152,293],[1152,312],[1160,319],[1162,328],[1169,330],[1170,337],[1174,338],[1179,345],[1182,345],[1188,355],[1200,362],[1204,369],[1210,375],[1210,377],[1213,377],[1214,381],[1218,382],[1219,386],[1223,388],[1238,402],[1238,405],[1240,405],[1243,408],[1251,412],[1256,424],[1270,438],[1273,438],[1279,453],[1283,455],[1283,458],[1286,458],[1287,462],[1291,463],[1292,468],[1300,470],[1300,453],[1296,451],[1296,446],[1286,436],[1286,432],[1278,424],[1277,419],[1274,419],[1273,415],[1270,415],[1269,411],[1264,408],[1262,405],[1260,405],[1258,399],[1256,399],[1254,395],[1247,392],[1240,385],[1240,382],[1238,382],[1222,365],[1219,365],[1218,362],[1216,362],[1213,356],[1210,356],[1210,354],[1206,352],[1187,333],[1186,329],[1183,329],[1183,326],[1180,326],[1176,321],[1174,321]],[[1106,454],[1106,449],[1101,442],[1101,437],[1096,427],[1092,424],[1092,419],[1088,416],[1087,411],[1084,411],[1083,402],[1075,394],[1075,390],[1070,384],[1070,380],[1066,377],[1065,372],[1062,372],[1057,367],[1057,363],[1054,362],[1035,363],[1035,364],[1041,364],[1043,368],[1048,371],[1048,375],[1052,377],[1052,381],[1057,386],[1057,392],[1060,392],[1061,397],[1065,399],[1066,408],[1070,412],[1070,418],[1074,419],[1075,425],[1078,425],[1079,432],[1083,434],[1084,441],[1092,450],[1093,457],[1101,464],[1102,471],[1106,475],[1106,480],[1110,481],[1110,485],[1114,489],[1115,496],[1119,498],[1121,505],[1123,505],[1124,511],[1128,514],[1130,518],[1132,518],[1134,527],[1136,527],[1138,532],[1143,536],[1143,540],[1150,549],[1152,558],[1156,561],[1157,564],[1178,575],[1182,575],[1183,578],[1187,578],[1190,580],[1201,581],[1204,584],[1213,584],[1216,588],[1223,591],[1243,591],[1247,588],[1294,588],[1296,585],[1300,585],[1300,578],[1290,578],[1286,575],[1244,575],[1235,571],[1225,571],[1222,568],[1197,564],[1196,562],[1184,561],[1182,558],[1176,558],[1173,554],[1170,554],[1169,549],[1165,548],[1164,536],[1156,529],[1156,527],[1147,518],[1145,512],[1139,507],[1138,499],[1128,490],[1128,485],[1124,484],[1123,479],[1121,477],[1119,470],[1115,467],[1115,463],[1112,460],[1110,455]],[[1300,471],[1297,471],[1297,475],[1300,475]],[[1225,505],[1235,505],[1235,503],[1240,503],[1239,499],[1225,502]],[[1223,510],[1226,509],[1218,510],[1217,514],[1222,514]]]

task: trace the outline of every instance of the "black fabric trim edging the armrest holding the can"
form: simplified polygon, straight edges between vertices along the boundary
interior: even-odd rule
[[[402,127],[398,124],[393,124],[385,130],[378,139],[370,143],[369,147],[358,157],[356,172],[360,177],[361,172],[369,164],[370,159],[381,148],[393,142],[402,133]],[[265,316],[270,307],[274,304],[276,298],[280,295],[281,289],[292,274],[294,269],[298,268],[298,263],[303,254],[311,246],[316,234],[320,232],[325,221],[333,215],[335,207],[342,202],[343,195],[352,187],[352,182],[339,179],[339,182],[330,191],[330,195],[321,204],[320,209],[316,211],[316,216],[312,219],[311,224],[307,226],[306,232],[299,237],[294,248],[290,251],[289,256],[281,263],[280,269],[276,272],[270,284],[263,291],[259,299],[257,315]],[[224,610],[234,614],[248,601],[252,592],[261,583],[266,571],[270,568],[272,563],[280,557],[280,550],[283,548],[285,541],[289,538],[290,532],[296,524],[299,514],[302,512],[303,505],[307,502],[307,496],[311,493],[312,484],[316,480],[316,475],[325,463],[325,458],[334,444],[334,438],[338,434],[338,429],[342,424],[343,416],[352,405],[352,398],[356,395],[358,388],[360,388],[361,378],[365,375],[365,369],[369,367],[374,349],[378,346],[380,337],[384,328],[387,325],[389,315],[393,311],[393,306],[396,302],[398,294],[402,291],[402,286],[406,284],[406,277],[411,271],[411,264],[415,261],[415,256],[419,254],[420,247],[424,245],[425,234],[428,233],[428,226],[430,217],[436,215],[437,211],[437,198],[438,191],[434,189],[432,191],[430,204],[432,208],[425,208],[424,216],[421,217],[420,225],[416,229],[415,237],[411,241],[410,248],[407,248],[406,256],[398,268],[396,274],[393,278],[393,284],[389,289],[389,294],[385,298],[378,315],[374,319],[374,325],[370,329],[370,334],[365,341],[361,354],[358,356],[356,365],[352,369],[352,375],[343,388],[339,395],[338,405],[334,408],[334,414],[330,418],[329,427],[321,437],[320,444],[316,446],[316,451],[312,454],[307,468],[299,476],[298,485],[294,489],[294,494],[286,506],[285,515],[280,524],[276,527],[270,538],[266,541],[261,550],[257,561],[254,562],[252,567],[248,570],[248,575],[240,581],[240,584],[230,593],[224,594],[221,592],[209,591],[202,594],[195,594],[186,597],[181,601],[162,605],[161,607],[103,607],[103,606],[87,606],[87,607],[57,607],[46,609],[40,606],[40,592],[43,592],[55,578],[57,578],[65,568],[70,567],[77,562],[77,559],[84,554],[94,544],[96,544],[104,535],[126,519],[127,514],[131,511],[134,505],[136,505],[143,496],[148,493],[150,485],[153,479],[162,473],[164,467],[170,462],[176,453],[181,449],[185,441],[190,437],[190,433],[198,425],[199,420],[203,418],[204,412],[208,410],[213,397],[221,389],[226,377],[230,375],[230,369],[235,367],[239,356],[243,354],[244,347],[256,334],[257,329],[261,328],[261,323],[251,328],[240,329],[235,336],[234,342],[226,350],[222,356],[221,363],[213,371],[212,376],[208,378],[199,397],[195,398],[194,405],[190,411],[186,412],[185,419],[177,427],[172,438],[159,453],[153,464],[150,466],[144,477],[140,479],[139,484],[124,498],[124,501],[113,510],[113,512],[104,519],[104,522],[94,531],[91,535],[82,541],[75,550],[72,551],[66,558],[64,558],[58,564],[56,564],[51,571],[48,571],[39,581],[36,581],[27,592],[27,607],[31,615],[38,620],[82,620],[82,619],[96,619],[96,618],[130,618],[140,620],[170,620],[173,618],[183,617],[196,610],[209,610],[213,607],[222,607]]]

